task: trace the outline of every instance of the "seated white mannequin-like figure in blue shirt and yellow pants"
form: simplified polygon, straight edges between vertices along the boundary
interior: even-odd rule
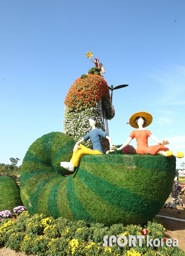
[[[74,171],[75,167],[78,167],[80,158],[82,155],[102,155],[103,149],[101,147],[101,139],[100,137],[107,138],[110,143],[110,147],[112,147],[112,140],[107,135],[107,132],[104,132],[103,130],[96,128],[95,125],[97,123],[97,119],[94,116],[91,116],[89,119],[90,126],[92,127],[92,130],[88,132],[81,140],[79,140],[75,145],[73,149],[73,155],[70,162],[61,162],[60,165],[67,169],[68,171]],[[91,142],[93,144],[93,150],[88,149],[87,147],[80,144],[82,141],[86,141],[88,139],[91,139]],[[114,151],[114,150],[110,150]]]

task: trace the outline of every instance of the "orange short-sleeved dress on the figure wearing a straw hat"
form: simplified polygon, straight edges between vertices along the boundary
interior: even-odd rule
[[[149,130],[134,130],[129,135],[132,139],[136,138],[137,141],[137,154],[150,154],[156,155],[158,151],[169,150],[169,148],[164,147],[163,145],[154,145],[148,147],[148,137],[152,133]]]

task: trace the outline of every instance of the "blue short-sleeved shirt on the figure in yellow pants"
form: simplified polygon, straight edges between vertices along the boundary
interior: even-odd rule
[[[100,136],[105,138],[107,136],[107,132],[104,132],[103,130],[101,130],[99,128],[95,128],[93,130],[90,130],[90,132],[88,132],[88,134],[86,134],[83,137],[83,139],[85,141],[88,140],[88,139],[91,139],[91,142],[93,144],[93,150],[99,150],[101,153],[103,153],[103,149],[101,147]]]

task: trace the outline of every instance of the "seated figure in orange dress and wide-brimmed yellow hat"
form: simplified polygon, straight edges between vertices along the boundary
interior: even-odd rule
[[[164,155],[165,157],[171,157],[174,155],[175,157],[182,158],[184,154],[182,152],[174,152],[170,151],[168,147],[164,147],[164,145],[169,144],[169,141],[160,142],[149,130],[145,130],[144,127],[148,126],[152,122],[152,115],[147,112],[140,111],[133,114],[129,119],[129,124],[138,128],[137,130],[133,130],[129,135],[127,141],[120,147],[110,147],[111,150],[120,151],[124,147],[126,147],[133,138],[136,138],[137,141],[137,154],[150,154],[150,155]],[[158,145],[148,146],[148,137],[152,138]],[[107,151],[106,153],[109,153]]]

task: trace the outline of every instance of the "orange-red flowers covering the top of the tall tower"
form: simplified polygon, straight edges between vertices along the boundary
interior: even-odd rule
[[[76,79],[64,103],[70,110],[82,110],[95,107],[96,102],[109,99],[109,88],[105,79],[98,74],[88,74],[84,79]]]

